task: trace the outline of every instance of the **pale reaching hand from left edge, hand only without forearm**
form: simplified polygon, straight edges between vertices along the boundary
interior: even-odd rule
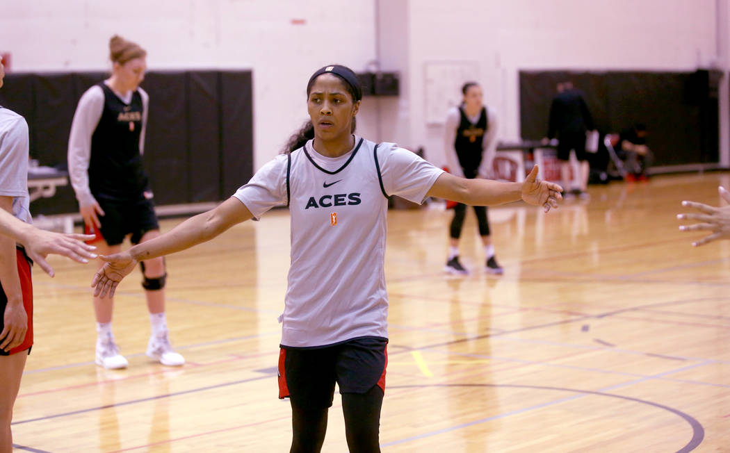
[[[96,253],[93,253],[96,247],[84,244],[82,241],[91,240],[93,237],[88,234],[62,234],[32,228],[23,236],[21,243],[26,247],[28,257],[34,263],[38,263],[46,274],[53,276],[53,268],[45,260],[47,255],[54,253],[64,255],[78,263],[88,263],[89,260],[96,258]]]

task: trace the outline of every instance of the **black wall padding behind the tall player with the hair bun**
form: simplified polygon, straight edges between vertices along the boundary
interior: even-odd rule
[[[7,74],[0,105],[28,121],[31,158],[66,169],[69,131],[79,98],[108,74]],[[250,71],[147,72],[150,94],[145,168],[155,203],[220,201],[253,174]],[[72,188],[31,204],[31,213],[77,212]]]

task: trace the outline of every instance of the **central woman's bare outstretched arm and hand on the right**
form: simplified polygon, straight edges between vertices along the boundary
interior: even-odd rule
[[[464,179],[444,173],[431,186],[427,195],[472,206],[492,206],[520,199],[545,212],[558,208],[563,199],[563,188],[553,182],[537,179],[537,166],[525,178],[525,182],[497,182],[491,179]]]

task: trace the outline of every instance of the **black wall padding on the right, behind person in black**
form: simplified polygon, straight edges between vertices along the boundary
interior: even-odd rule
[[[717,98],[688,96],[694,73],[520,71],[523,139],[548,132],[550,102],[564,80],[583,90],[602,135],[645,123],[655,165],[718,162]]]

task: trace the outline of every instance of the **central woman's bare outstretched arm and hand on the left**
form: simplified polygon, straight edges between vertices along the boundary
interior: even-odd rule
[[[231,197],[215,209],[191,217],[155,239],[137,244],[126,252],[102,255],[101,259],[107,263],[93,277],[91,286],[96,287],[94,295],[114,295],[119,282],[139,261],[180,252],[201,242],[210,241],[233,225],[252,217],[245,204],[238,198]]]

